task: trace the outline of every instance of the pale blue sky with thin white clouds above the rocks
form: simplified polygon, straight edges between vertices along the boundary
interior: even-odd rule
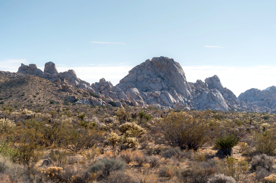
[[[276,1],[0,0],[0,70],[56,64],[116,85],[134,66],[173,58],[189,82],[218,75],[238,96],[276,85]]]

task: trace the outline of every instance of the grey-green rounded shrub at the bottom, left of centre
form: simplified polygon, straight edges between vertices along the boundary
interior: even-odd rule
[[[125,163],[116,159],[104,158],[96,162],[90,167],[90,172],[99,172],[100,176],[107,177],[111,172],[123,171]]]

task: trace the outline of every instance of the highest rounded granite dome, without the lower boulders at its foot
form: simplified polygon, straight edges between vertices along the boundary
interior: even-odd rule
[[[117,85],[127,89],[127,83],[141,92],[155,92],[174,88],[184,97],[190,97],[190,86],[179,63],[168,57],[154,57],[129,71]],[[134,87],[133,86],[133,87]]]

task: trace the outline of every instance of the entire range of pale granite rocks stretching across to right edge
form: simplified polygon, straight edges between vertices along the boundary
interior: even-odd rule
[[[154,57],[135,66],[116,86],[104,78],[90,84],[78,78],[74,70],[58,72],[53,62],[45,64],[44,72],[35,64],[21,64],[14,75],[22,74],[52,80],[56,87],[68,93],[66,101],[77,104],[276,112],[275,86],[262,91],[252,88],[237,98],[223,87],[217,75],[187,82],[180,64],[167,57]]]

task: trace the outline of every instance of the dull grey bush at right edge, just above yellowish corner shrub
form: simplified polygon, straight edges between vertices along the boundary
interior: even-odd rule
[[[251,161],[251,169],[254,171],[257,168],[263,168],[271,171],[275,166],[274,158],[265,154],[254,156]]]

